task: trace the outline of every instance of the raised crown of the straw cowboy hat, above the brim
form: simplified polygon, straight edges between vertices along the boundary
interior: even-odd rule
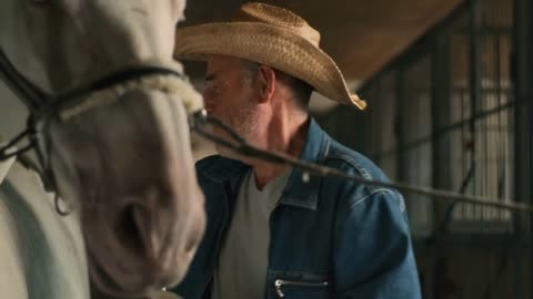
[[[301,35],[312,44],[319,47],[320,33],[294,12],[260,2],[243,4],[233,17],[234,22],[261,22],[270,25],[282,27]]]

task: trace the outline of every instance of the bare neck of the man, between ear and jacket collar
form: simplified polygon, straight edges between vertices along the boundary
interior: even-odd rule
[[[282,115],[272,121],[268,131],[268,151],[278,151],[299,157],[303,151],[310,117],[306,114]],[[255,185],[262,189],[269,182],[288,171],[286,165],[273,164],[260,159],[250,161],[253,167]]]

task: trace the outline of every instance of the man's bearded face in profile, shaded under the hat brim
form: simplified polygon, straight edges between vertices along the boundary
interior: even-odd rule
[[[252,144],[258,141],[257,95],[253,79],[242,60],[223,55],[208,59],[203,92],[208,114],[221,120]],[[228,137],[220,130],[215,130],[215,133]],[[217,150],[222,155],[231,156],[225,148]]]

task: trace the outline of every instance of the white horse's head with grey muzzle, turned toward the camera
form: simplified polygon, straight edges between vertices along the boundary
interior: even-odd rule
[[[125,295],[178,282],[205,223],[188,126],[201,100],[158,72],[122,72],[98,91],[83,82],[135,65],[181,72],[172,50],[184,0],[1,6],[1,49],[20,73],[51,94],[86,86],[40,121],[39,145],[57,192],[79,208],[93,281]]]

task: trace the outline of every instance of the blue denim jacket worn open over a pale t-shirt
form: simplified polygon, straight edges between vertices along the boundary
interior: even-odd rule
[[[314,120],[300,158],[368,179],[388,179]],[[185,279],[173,290],[185,299],[211,298],[218,254],[249,166],[211,156],[200,161],[197,171],[208,226]],[[394,189],[293,169],[270,216],[270,229],[266,299],[421,298],[405,204]]]

